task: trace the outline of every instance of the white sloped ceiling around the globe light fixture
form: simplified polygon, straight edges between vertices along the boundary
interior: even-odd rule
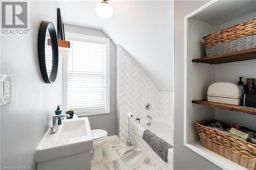
[[[100,29],[129,52],[160,90],[173,91],[172,1],[109,1],[111,18],[97,16],[99,1],[58,1],[63,22]]]

